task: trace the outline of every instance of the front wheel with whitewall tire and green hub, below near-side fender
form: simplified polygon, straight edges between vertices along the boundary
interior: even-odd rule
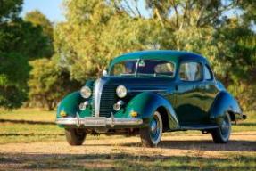
[[[155,111],[149,126],[140,129],[140,137],[143,146],[155,147],[161,141],[162,120],[158,111]]]

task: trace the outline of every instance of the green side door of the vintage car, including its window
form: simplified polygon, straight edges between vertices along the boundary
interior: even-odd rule
[[[201,124],[205,118],[202,67],[200,61],[183,61],[180,63],[175,110],[181,126]]]

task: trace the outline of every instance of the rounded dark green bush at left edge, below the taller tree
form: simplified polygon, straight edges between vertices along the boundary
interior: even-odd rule
[[[0,61],[0,106],[18,108],[26,100],[28,61],[20,53],[0,53]]]

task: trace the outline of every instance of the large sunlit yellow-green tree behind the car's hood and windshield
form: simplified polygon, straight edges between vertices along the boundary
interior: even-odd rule
[[[65,1],[67,21],[56,26],[54,44],[74,79],[98,77],[114,56],[145,49],[144,20],[118,12],[104,1]],[[144,30],[145,31],[145,30]]]

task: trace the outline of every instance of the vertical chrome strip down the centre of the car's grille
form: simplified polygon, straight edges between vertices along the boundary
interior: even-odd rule
[[[105,85],[106,79],[97,79],[95,81],[95,117],[100,117],[100,105],[101,105],[101,96],[103,92],[103,85]]]

